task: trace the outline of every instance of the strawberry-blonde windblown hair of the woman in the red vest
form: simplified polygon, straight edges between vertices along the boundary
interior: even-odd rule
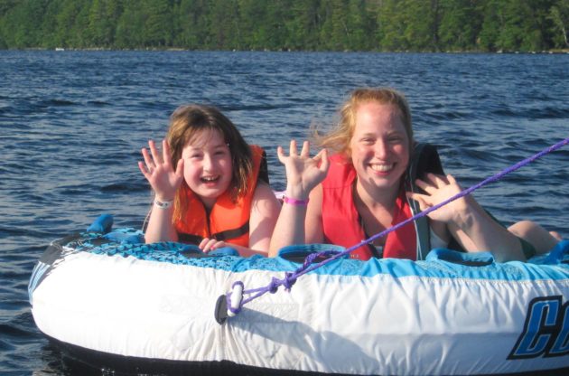
[[[413,126],[411,123],[411,111],[405,96],[391,88],[355,89],[350,98],[340,108],[340,121],[331,132],[320,135],[318,129],[313,132],[313,138],[319,146],[331,149],[331,151],[350,157],[350,140],[356,127],[356,113],[359,105],[368,102],[378,102],[385,105],[393,105],[399,109],[403,125],[409,138],[409,146],[413,146]]]

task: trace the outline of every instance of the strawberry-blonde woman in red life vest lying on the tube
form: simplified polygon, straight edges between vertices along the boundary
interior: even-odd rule
[[[356,89],[340,111],[340,123],[321,138],[323,149],[314,158],[309,144],[300,155],[291,142],[289,155],[277,153],[285,165],[287,185],[284,206],[271,240],[269,255],[292,244],[358,244],[421,210],[461,192],[452,175],[424,174],[406,192],[405,184],[415,148],[411,114],[405,97],[394,89]],[[407,188],[407,190],[406,190]],[[418,191],[418,190],[416,190]],[[409,200],[407,200],[409,199]],[[429,249],[447,247],[455,240],[467,251],[490,250],[497,261],[524,260],[551,249],[555,238],[533,222],[515,225],[518,235],[533,233],[529,244],[499,225],[471,195],[455,200],[428,215],[427,235],[414,223],[391,232],[351,253],[352,258],[421,258],[416,250],[426,237]]]

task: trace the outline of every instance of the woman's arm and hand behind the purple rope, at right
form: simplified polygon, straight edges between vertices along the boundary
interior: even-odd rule
[[[427,180],[417,179],[416,183],[427,194],[407,194],[419,202],[421,210],[462,191],[452,175],[427,174]],[[499,262],[526,259],[518,238],[494,221],[471,195],[450,202],[428,216],[434,221],[446,223],[452,236],[470,252],[488,250]]]

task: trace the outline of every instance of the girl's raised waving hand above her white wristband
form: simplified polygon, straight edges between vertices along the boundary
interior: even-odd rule
[[[166,140],[162,141],[162,155],[158,153],[153,140],[148,141],[150,154],[143,147],[142,155],[145,162],[138,162],[138,168],[145,175],[146,180],[156,194],[159,201],[171,201],[182,184],[183,159],[178,161],[176,171],[173,171],[172,159],[170,158],[170,146]]]

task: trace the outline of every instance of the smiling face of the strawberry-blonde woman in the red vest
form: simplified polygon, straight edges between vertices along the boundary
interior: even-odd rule
[[[409,163],[409,137],[399,109],[375,101],[360,104],[350,150],[359,183],[397,188]]]

